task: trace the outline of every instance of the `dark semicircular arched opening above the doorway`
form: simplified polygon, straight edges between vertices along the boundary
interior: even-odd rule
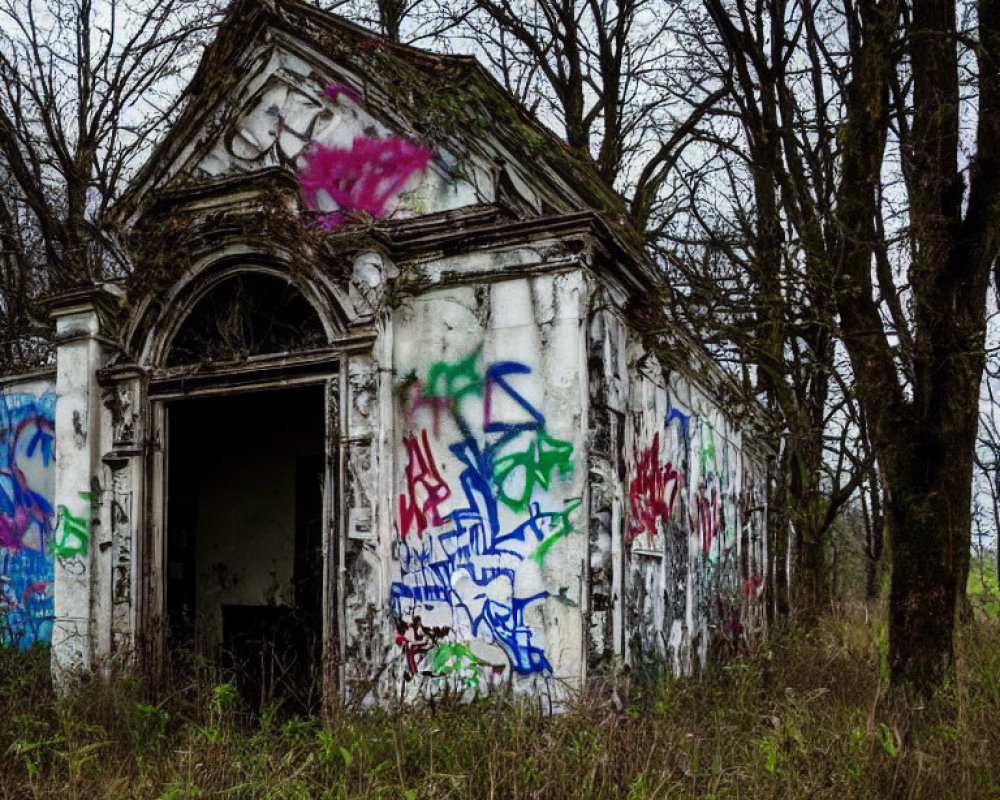
[[[167,366],[239,361],[326,344],[316,310],[295,286],[261,272],[241,272],[206,294],[170,345]]]

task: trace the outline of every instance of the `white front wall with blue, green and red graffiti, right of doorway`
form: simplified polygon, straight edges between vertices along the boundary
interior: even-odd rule
[[[393,313],[381,528],[397,696],[579,683],[582,285],[565,272],[441,288]]]

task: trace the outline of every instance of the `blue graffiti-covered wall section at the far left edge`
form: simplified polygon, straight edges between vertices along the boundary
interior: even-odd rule
[[[55,395],[0,395],[0,646],[51,638]]]

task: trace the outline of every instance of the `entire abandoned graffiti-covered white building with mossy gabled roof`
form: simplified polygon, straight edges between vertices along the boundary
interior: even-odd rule
[[[186,92],[117,205],[133,273],[0,382],[4,645],[374,698],[759,634],[757,412],[585,158],[295,0],[240,0]]]

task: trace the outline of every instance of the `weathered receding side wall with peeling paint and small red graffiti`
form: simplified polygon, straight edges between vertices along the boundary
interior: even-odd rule
[[[738,651],[764,625],[766,462],[613,311],[590,318],[588,370],[590,668],[704,670],[710,645]]]

